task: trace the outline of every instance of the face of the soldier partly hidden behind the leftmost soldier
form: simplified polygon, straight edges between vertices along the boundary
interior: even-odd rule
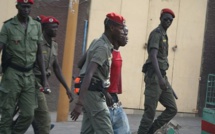
[[[49,37],[56,37],[57,36],[57,30],[58,30],[58,24],[57,23],[48,23],[44,27],[44,32]]]

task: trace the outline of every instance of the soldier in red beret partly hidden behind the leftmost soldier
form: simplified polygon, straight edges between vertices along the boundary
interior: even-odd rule
[[[43,31],[43,42],[42,42],[42,52],[45,61],[45,71],[46,76],[49,78],[51,76],[51,67],[55,73],[55,76],[60,81],[60,83],[66,89],[66,93],[70,102],[73,100],[73,96],[69,86],[66,84],[66,81],[63,77],[62,70],[58,63],[58,44],[54,41],[54,38],[57,35],[57,30],[59,26],[59,21],[52,16],[40,15],[42,31]],[[43,92],[39,89],[41,87],[41,71],[38,64],[35,64],[34,74],[36,76],[36,91],[37,91],[37,100],[38,108],[35,110],[34,121],[32,123],[35,134],[49,134],[51,126],[51,118],[48,110],[48,105],[46,102],[46,97]]]

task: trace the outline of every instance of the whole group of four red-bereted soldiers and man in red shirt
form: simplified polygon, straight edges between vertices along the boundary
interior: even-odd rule
[[[58,44],[54,38],[60,22],[44,15],[33,19],[29,16],[32,4],[34,0],[17,0],[17,15],[5,21],[0,32],[3,70],[0,134],[24,134],[31,124],[35,134],[50,133],[53,126],[44,94],[50,93],[47,79],[51,67],[70,102],[73,101],[57,60]],[[160,25],[149,36],[149,57],[142,70],[146,83],[145,109],[138,134],[153,134],[177,113],[173,89],[166,76],[169,67],[166,31],[174,17],[172,10],[163,9]],[[78,63],[81,86],[71,118],[77,120],[83,111],[81,134],[130,134],[128,118],[118,98],[122,93],[119,48],[128,42],[125,18],[108,13],[104,29]],[[166,109],[154,120],[158,102]],[[19,115],[14,121],[17,109]]]

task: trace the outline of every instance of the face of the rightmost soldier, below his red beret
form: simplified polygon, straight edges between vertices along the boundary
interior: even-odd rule
[[[161,16],[160,21],[161,21],[161,26],[167,30],[170,27],[170,25],[172,24],[173,17],[171,14],[164,13]]]

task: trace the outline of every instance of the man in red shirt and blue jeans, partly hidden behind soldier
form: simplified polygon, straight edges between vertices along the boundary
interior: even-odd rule
[[[130,134],[128,117],[123,111],[122,103],[119,101],[118,94],[122,94],[122,57],[119,47],[124,47],[128,42],[128,28],[124,27],[124,34],[118,42],[115,43],[112,52],[112,63],[110,73],[110,87],[108,94],[113,100],[113,105],[109,106],[110,118],[114,134]]]

